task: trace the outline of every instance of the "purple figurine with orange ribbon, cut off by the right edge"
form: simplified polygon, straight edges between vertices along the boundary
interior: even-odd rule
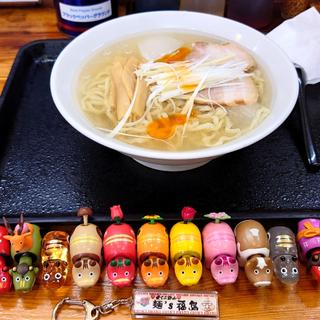
[[[297,241],[301,260],[307,262],[307,271],[311,271],[320,282],[320,220],[301,220],[298,223]]]

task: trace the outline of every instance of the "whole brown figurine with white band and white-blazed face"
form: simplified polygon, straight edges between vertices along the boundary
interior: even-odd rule
[[[258,221],[245,220],[238,223],[234,233],[239,265],[244,267],[247,278],[256,287],[269,286],[273,267],[266,230]]]

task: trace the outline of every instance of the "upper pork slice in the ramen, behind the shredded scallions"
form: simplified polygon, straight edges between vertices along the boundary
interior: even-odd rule
[[[251,55],[241,47],[233,43],[208,43],[198,41],[193,44],[192,52],[188,55],[188,60],[201,60],[205,56],[219,60],[228,58],[234,62],[244,62],[245,71],[252,71],[256,67],[256,62]]]

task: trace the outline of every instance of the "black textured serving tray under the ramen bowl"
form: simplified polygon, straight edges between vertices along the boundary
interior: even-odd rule
[[[320,173],[304,161],[297,111],[262,141],[201,168],[152,170],[87,139],[59,114],[49,78],[67,43],[23,47],[0,98],[0,216],[23,212],[34,222],[67,223],[78,221],[78,207],[90,206],[102,222],[114,204],[129,221],[153,213],[174,221],[185,205],[235,220],[320,216]],[[307,96],[319,147],[320,86],[309,86]]]

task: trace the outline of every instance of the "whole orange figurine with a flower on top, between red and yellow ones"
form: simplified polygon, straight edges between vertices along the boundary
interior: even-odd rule
[[[169,236],[158,215],[145,216],[149,220],[138,231],[138,259],[143,281],[148,287],[163,286],[169,276]]]

